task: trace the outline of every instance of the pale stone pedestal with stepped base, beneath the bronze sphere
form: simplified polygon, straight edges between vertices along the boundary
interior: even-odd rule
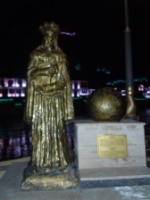
[[[80,186],[149,184],[144,125],[128,119],[120,122],[75,121],[75,151]],[[107,140],[107,137],[110,138]],[[99,138],[102,140],[99,141]],[[111,141],[114,145],[111,145]],[[120,141],[124,143],[121,147]],[[106,146],[106,152],[102,148],[105,143],[110,146]]]

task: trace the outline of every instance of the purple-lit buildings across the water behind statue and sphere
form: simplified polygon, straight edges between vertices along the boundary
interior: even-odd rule
[[[145,82],[144,79],[137,81],[135,80],[136,85],[136,95],[137,97],[143,97],[150,99],[150,86]],[[0,98],[24,98],[26,94],[26,79],[22,78],[0,78]],[[125,90],[125,81],[114,81],[107,82],[106,86],[111,86],[114,89],[118,90],[122,96],[126,96]],[[81,98],[88,97],[91,95],[95,88],[89,88],[89,81],[87,80],[72,80],[72,97]]]

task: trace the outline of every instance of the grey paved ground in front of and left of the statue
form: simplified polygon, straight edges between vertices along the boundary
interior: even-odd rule
[[[150,200],[150,185],[49,191],[21,191],[29,157],[0,162],[0,200]]]

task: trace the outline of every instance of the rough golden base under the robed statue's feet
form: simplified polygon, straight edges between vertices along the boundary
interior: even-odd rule
[[[26,191],[76,188],[78,186],[78,180],[75,171],[75,168],[68,167],[64,171],[38,175],[33,173],[30,167],[27,167],[24,170],[21,189]]]

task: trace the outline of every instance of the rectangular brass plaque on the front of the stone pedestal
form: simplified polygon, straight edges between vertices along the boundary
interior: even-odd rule
[[[97,135],[99,158],[126,158],[126,135]]]

